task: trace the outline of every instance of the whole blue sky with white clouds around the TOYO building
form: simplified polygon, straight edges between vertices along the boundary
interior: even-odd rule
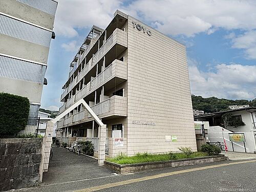
[[[256,97],[256,1],[59,0],[41,108],[57,110],[69,65],[92,25],[105,28],[116,9],[187,47],[191,93]]]

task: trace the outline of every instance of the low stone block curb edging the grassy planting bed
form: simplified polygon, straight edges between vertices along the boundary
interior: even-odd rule
[[[139,172],[141,170],[148,170],[154,168],[163,167],[180,167],[187,165],[211,163],[216,161],[228,160],[224,155],[206,156],[206,157],[196,157],[188,159],[170,160],[170,161],[158,161],[158,162],[147,162],[147,163],[136,163],[136,164],[117,164],[109,161],[104,161],[104,165],[115,170],[118,173],[133,173]]]

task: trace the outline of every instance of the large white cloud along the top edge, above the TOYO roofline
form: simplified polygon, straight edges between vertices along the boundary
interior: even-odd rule
[[[255,9],[256,2],[251,0],[137,0],[126,8],[166,34],[187,36],[210,34],[218,28],[255,29]]]

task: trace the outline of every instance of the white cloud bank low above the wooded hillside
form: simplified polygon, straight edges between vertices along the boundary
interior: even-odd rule
[[[215,67],[215,72],[203,72],[190,62],[188,69],[192,94],[230,99],[256,97],[256,66],[221,64]]]

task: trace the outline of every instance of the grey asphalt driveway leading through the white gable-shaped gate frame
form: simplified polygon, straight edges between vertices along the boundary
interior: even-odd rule
[[[95,159],[53,146],[53,158],[50,159],[48,172],[44,173],[43,185],[108,177],[113,173],[104,166],[98,166]]]

